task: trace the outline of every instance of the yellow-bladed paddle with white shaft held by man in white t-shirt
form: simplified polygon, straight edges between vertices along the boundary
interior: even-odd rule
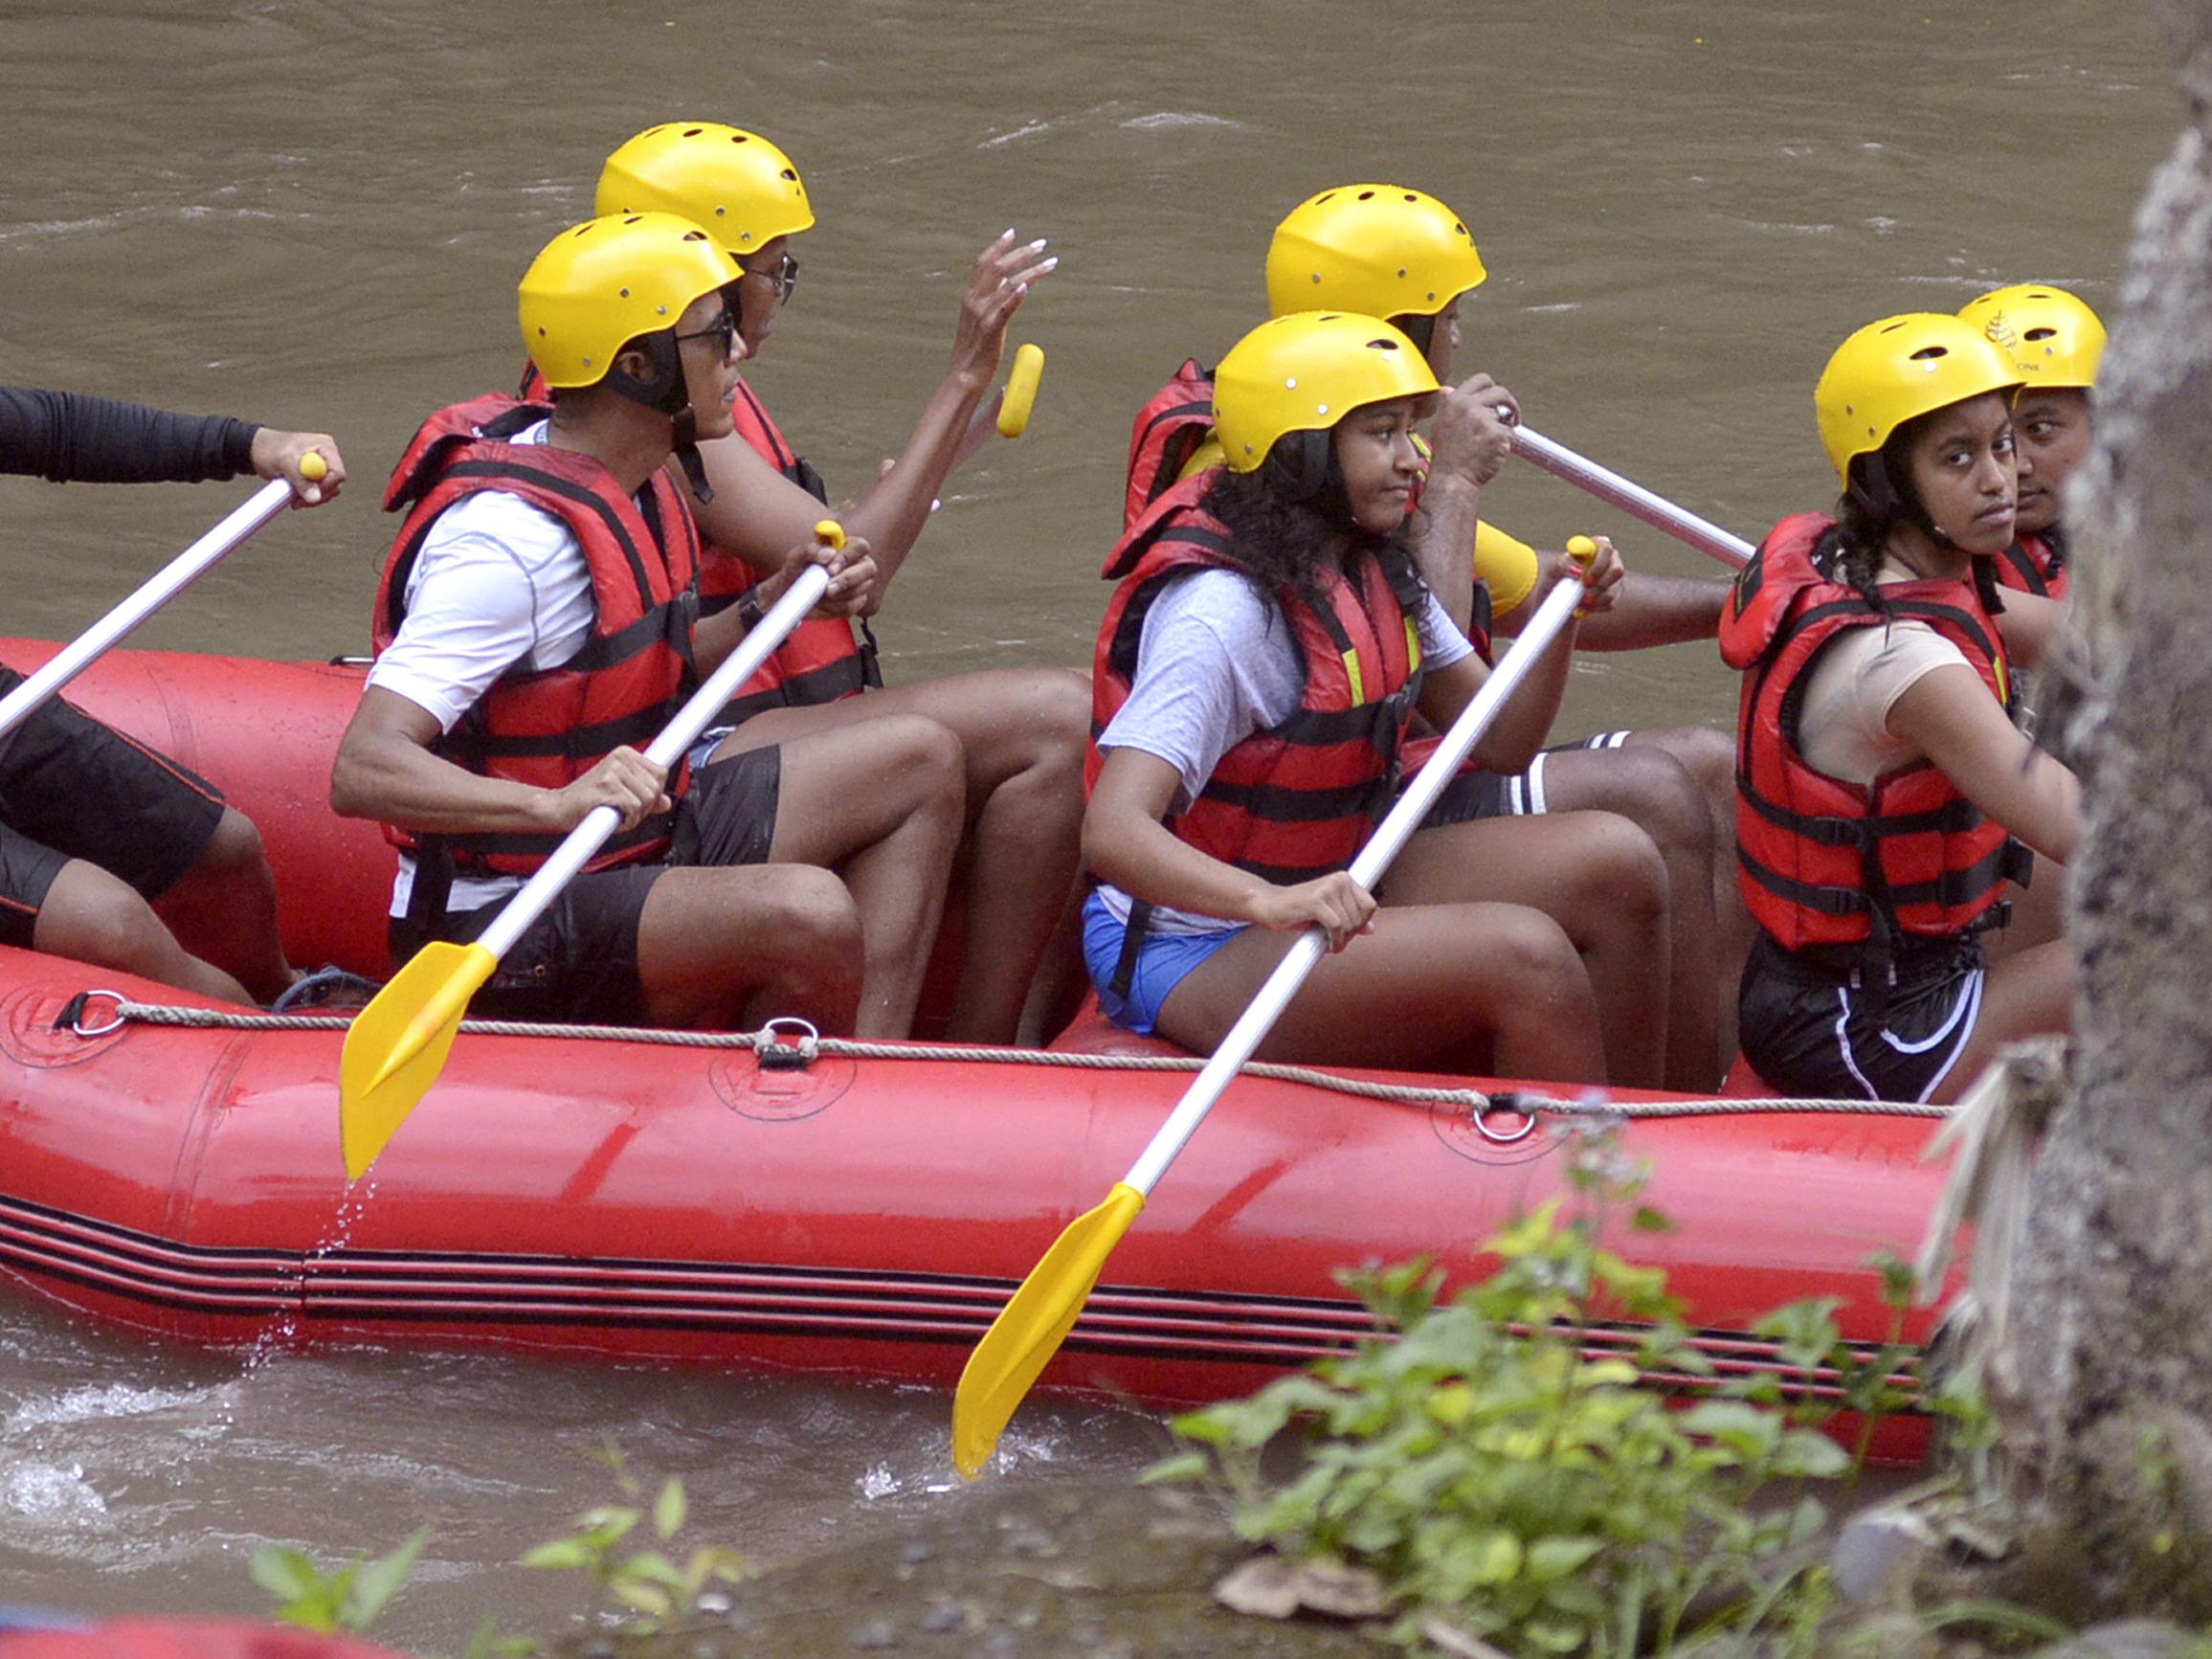
[[[845,531],[832,520],[816,524],[814,538],[830,549],[845,546]],[[781,646],[807,611],[821,604],[827,586],[827,566],[810,564],[803,568],[768,615],[739,639],[737,650],[708,675],[668,728],[653,739],[646,759],[655,765],[675,765],[723,703],[737,695],[737,688],[768,659],[768,653]],[[438,1082],[469,998],[491,978],[500,958],[544,914],[546,905],[560,896],[560,889],[615,834],[617,823],[622,823],[622,814],[615,807],[593,807],[473,945],[425,945],[407,967],[392,975],[376,1000],[354,1015],[354,1024],[345,1033],[345,1051],[338,1057],[338,1139],[345,1148],[345,1177],[349,1181],[363,1177],[407,1113]]]

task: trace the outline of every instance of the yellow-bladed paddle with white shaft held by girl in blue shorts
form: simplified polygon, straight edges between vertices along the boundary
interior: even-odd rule
[[[1595,557],[1597,544],[1586,535],[1577,535],[1566,544],[1566,551],[1588,562]],[[1442,745],[1413,774],[1405,794],[1389,810],[1389,816],[1383,818],[1367,845],[1360,847],[1352,860],[1352,880],[1374,889],[1383,872],[1389,869],[1391,858],[1411,841],[1429,807],[1436,805],[1444,785],[1451,783],[1451,776],[1460,770],[1460,761],[1482,741],[1482,734],[1498,719],[1498,710],[1522,679],[1528,677],[1528,668],[1559,635],[1568,617],[1575,615],[1579,602],[1579,582],[1559,582],[1544,595],[1520,639],[1498,661],[1491,677],[1482,681],[1482,690],[1460,710]],[[1037,1380],[1046,1360],[1053,1358],[1075,1325],[1075,1316],[1082,1314],[1084,1301],[1088,1301],[1093,1285],[1097,1285],[1106,1256],[1121,1243],[1121,1234],[1128,1232],[1146,1197],[1150,1197],[1152,1183],[1166,1175],[1175,1155],[1183,1150],[1183,1144],[1197,1133],[1206,1113],[1221,1097],[1221,1091],[1228,1088],[1230,1079],[1243,1068],[1243,1062],[1252,1057],[1252,1051],[1274,1029],[1274,1022],[1290,1006],[1298,987],[1305,984],[1305,975],[1321,962],[1325,949],[1327,936],[1318,927],[1310,927],[1298,936],[1274,973],[1267,975],[1259,995],[1252,998],[1252,1004],[1230,1026],[1221,1046],[1214,1048],[1212,1060],[1206,1062],[1206,1068],[1183,1091],[1183,1099],[1175,1106],[1168,1121],[1161,1124],[1150,1146],[1144,1148],[1144,1157],[1115,1183],[1099,1208],[1068,1223],[1066,1232],[1044,1252],[1044,1259],[1013,1292],[1013,1298],[1000,1310],[998,1318],[991,1321],[991,1329],[984,1332],[975,1352],[969,1354],[967,1369],[960,1371],[960,1389],[953,1396],[953,1464],[958,1464],[962,1475],[973,1478],[991,1460],[998,1436],[1013,1418],[1013,1409],[1029,1394],[1029,1385]],[[1358,949],[1358,945],[1352,949]]]

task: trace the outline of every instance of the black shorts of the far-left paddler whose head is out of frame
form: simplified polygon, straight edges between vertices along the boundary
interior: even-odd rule
[[[0,697],[22,675],[0,668]],[[51,697],[0,739],[0,945],[31,945],[62,865],[82,858],[155,900],[215,836],[223,792]]]

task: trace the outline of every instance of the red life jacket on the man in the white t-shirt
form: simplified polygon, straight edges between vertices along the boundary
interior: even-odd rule
[[[549,414],[546,405],[484,396],[422,422],[385,489],[385,511],[405,511],[407,520],[376,591],[374,641],[383,655],[398,637],[407,573],[453,502],[500,489],[566,524],[591,566],[593,624],[584,648],[560,668],[509,668],[431,745],[482,776],[557,790],[622,743],[648,745],[681,708],[692,684],[699,533],[666,471],[653,473],[639,504],[591,456],[507,442]],[[686,783],[679,763],[668,779],[670,799]],[[670,818],[655,814],[617,832],[586,869],[655,858],[668,845]],[[389,825],[385,836],[425,863],[451,856],[453,867],[478,874],[529,874],[562,843],[557,832],[418,836]]]

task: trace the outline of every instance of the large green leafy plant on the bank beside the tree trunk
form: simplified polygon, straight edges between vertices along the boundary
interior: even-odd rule
[[[1756,1630],[1807,1650],[1827,1575],[1801,1546],[1827,1511],[1803,1482],[1854,1469],[1814,1427],[1836,1407],[1783,1407],[1772,1374],[1686,1409],[1637,1387],[1712,1367],[1663,1274],[1599,1243],[1644,1172],[1593,1139],[1571,1181],[1588,1212],[1564,1219],[1553,1199],[1515,1221],[1484,1245],[1498,1270],[1449,1303],[1429,1263],[1345,1274],[1389,1338],[1179,1418],[1190,1451],[1146,1478],[1217,1480],[1245,1537],[1371,1568],[1407,1646],[1626,1657]],[[1637,1208],[1628,1225],[1668,1223]],[[1586,1352],[1593,1321],[1639,1325],[1637,1352]],[[1785,1365],[1838,1376],[1851,1409],[1896,1409],[1907,1349],[1851,1356],[1832,1303],[1761,1332]],[[1292,1427],[1303,1462],[1274,1484],[1261,1453]]]

